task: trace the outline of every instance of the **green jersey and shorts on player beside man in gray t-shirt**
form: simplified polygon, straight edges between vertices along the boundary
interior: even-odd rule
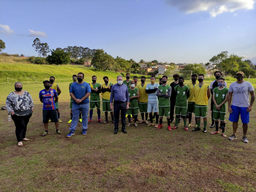
[[[214,98],[216,100],[216,103],[219,105],[226,99],[226,95],[228,94],[228,88],[224,87],[224,89],[219,90],[219,87],[214,88],[212,91],[214,93]],[[225,113],[226,112],[226,103],[224,103],[221,107],[220,110],[216,109],[215,104],[213,105],[213,111],[215,112],[221,112]]]

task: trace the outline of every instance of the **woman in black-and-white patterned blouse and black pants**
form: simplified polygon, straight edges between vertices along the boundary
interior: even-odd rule
[[[15,91],[11,92],[6,98],[6,107],[12,115],[16,130],[18,146],[22,146],[22,140],[28,141],[26,138],[27,124],[34,109],[34,103],[31,95],[22,90],[20,82],[15,83]]]

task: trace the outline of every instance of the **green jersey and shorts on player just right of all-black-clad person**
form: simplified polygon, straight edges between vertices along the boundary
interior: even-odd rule
[[[189,87],[184,85],[180,87],[177,85],[174,87],[175,92],[177,93],[176,96],[176,103],[175,103],[175,115],[187,115],[187,94],[189,94]]]

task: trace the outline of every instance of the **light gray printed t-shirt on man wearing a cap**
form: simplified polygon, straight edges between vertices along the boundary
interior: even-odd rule
[[[232,105],[238,107],[248,107],[249,92],[254,91],[254,88],[250,82],[244,81],[243,83],[234,82],[229,86],[229,92],[233,92]]]

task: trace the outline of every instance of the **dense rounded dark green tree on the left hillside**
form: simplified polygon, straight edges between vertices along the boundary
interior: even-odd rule
[[[69,53],[65,52],[63,49],[56,49],[51,51],[52,55],[48,55],[46,57],[46,60],[49,64],[56,64],[56,65],[62,65],[62,64],[68,64],[70,62],[70,55]]]

